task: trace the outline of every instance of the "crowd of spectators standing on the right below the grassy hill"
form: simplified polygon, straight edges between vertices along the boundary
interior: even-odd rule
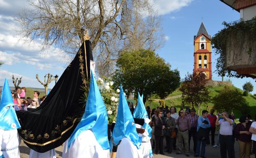
[[[129,108],[132,112],[131,106]],[[202,110],[201,116],[196,114],[194,108],[190,109],[188,106],[181,107],[179,112],[174,106],[157,107],[152,110],[147,106],[146,110],[152,120],[151,145],[155,154],[164,155],[164,152],[172,153],[176,150],[176,154],[184,153],[190,156],[191,138],[194,157],[205,158],[205,146],[211,145],[220,147],[220,158],[235,158],[236,141],[239,145],[239,151],[236,152],[239,152],[240,158],[250,158],[251,154],[256,153],[256,115],[255,122],[250,121],[251,116],[248,114],[242,115],[240,123],[236,124],[234,114],[225,111],[214,114],[214,109],[210,112]],[[218,125],[218,138],[215,143]],[[166,144],[163,141],[164,137]]]

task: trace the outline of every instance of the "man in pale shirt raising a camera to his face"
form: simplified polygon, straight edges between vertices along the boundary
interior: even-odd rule
[[[227,151],[228,151],[228,158],[233,158],[233,149],[234,149],[234,142],[233,142],[233,124],[234,121],[228,118],[228,112],[222,112],[221,117],[223,119],[219,120],[219,117],[216,119],[216,125],[220,125],[220,151],[221,151],[221,158],[227,158]]]

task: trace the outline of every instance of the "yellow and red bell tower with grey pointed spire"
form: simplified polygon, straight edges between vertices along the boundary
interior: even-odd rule
[[[203,72],[211,80],[211,36],[202,22],[194,36],[194,72]]]

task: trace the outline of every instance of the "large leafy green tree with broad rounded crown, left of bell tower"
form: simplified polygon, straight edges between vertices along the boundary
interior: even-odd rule
[[[143,94],[144,102],[152,94],[164,99],[180,85],[179,71],[171,70],[170,64],[150,50],[126,51],[118,58],[116,67],[116,86],[122,83],[124,91],[135,97],[137,92]]]

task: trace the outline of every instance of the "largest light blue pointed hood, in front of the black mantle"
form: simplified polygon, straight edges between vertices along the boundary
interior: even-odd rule
[[[83,114],[78,126],[75,128],[75,131],[70,136],[68,147],[70,147],[72,142],[80,135],[80,133],[89,129],[92,129],[92,132],[102,149],[109,149],[108,115],[106,106],[102,100],[101,93],[99,92],[98,85],[92,72],[85,113]]]

